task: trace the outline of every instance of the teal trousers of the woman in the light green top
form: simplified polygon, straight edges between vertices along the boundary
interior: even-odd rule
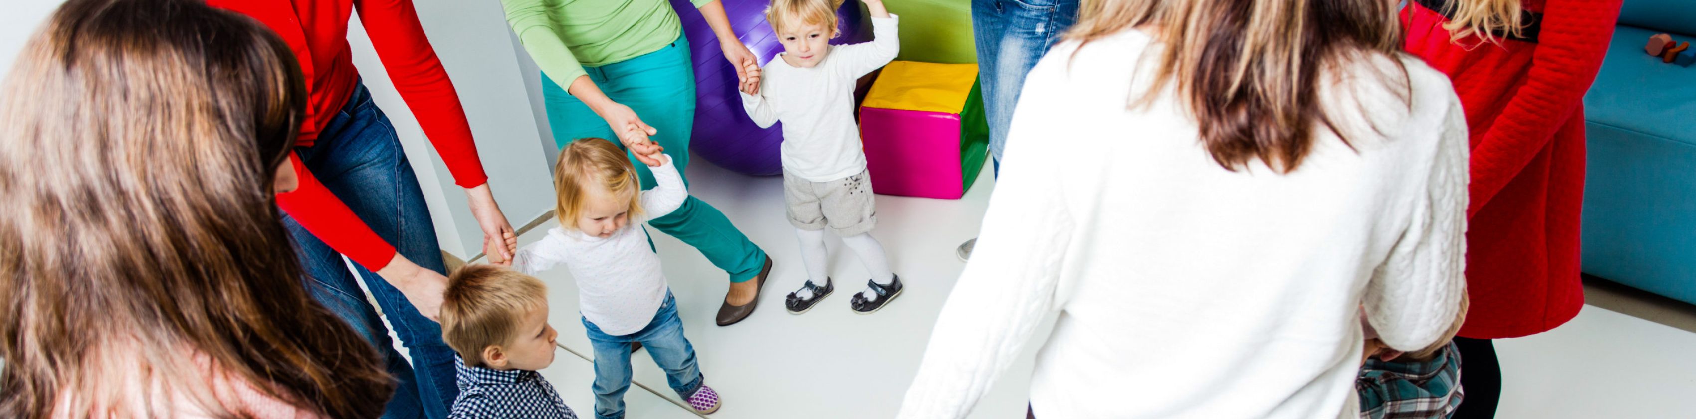
[[[655,142],[672,156],[672,165],[683,175],[689,185],[689,137],[695,126],[695,70],[689,58],[689,39],[678,36],[675,42],[660,51],[624,59],[605,66],[583,68],[589,80],[600,87],[609,98],[631,107],[643,122],[653,126],[660,134]],[[582,100],[572,97],[553,78],[541,78],[543,98],[548,105],[548,126],[553,129],[553,141],[560,148],[580,137],[604,137],[617,142],[607,120],[589,110]],[[622,144],[619,146],[622,148]],[[636,176],[643,188],[653,188],[653,171],[648,165],[636,161]],[[739,229],[719,209],[706,200],[690,195],[683,205],[648,221],[648,226],[683,241],[712,261],[712,266],[729,273],[731,282],[748,282],[765,268],[765,251],[748,241]]]

